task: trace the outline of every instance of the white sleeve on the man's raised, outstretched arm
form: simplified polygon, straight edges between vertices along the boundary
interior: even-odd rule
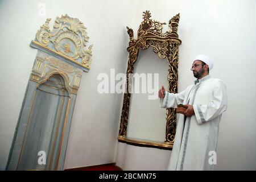
[[[183,104],[186,90],[180,93],[165,92],[164,98],[160,98],[160,107],[170,108]]]

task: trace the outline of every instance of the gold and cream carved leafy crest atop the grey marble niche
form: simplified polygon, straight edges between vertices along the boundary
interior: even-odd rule
[[[89,68],[92,61],[92,46],[86,48],[89,37],[86,27],[77,18],[71,18],[67,14],[57,17],[53,30],[49,28],[50,18],[46,20],[36,33],[36,41],[60,55],[70,57],[82,67]]]

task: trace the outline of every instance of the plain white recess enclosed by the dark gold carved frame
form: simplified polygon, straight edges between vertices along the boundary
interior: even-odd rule
[[[168,88],[168,65],[167,59],[160,59],[152,47],[139,51],[134,64],[134,76],[137,80],[133,80],[133,92],[139,89],[140,93],[133,93],[130,100],[127,138],[161,143],[166,140],[166,110],[159,107],[158,90],[159,85]],[[138,81],[139,76],[136,74],[142,77],[141,80]],[[142,93],[142,90],[146,93]]]

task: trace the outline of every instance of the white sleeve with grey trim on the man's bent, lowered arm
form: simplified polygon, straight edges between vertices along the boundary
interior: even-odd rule
[[[221,115],[228,105],[226,96],[226,85],[223,81],[218,80],[213,89],[213,98],[208,104],[193,105],[197,123],[203,124]]]

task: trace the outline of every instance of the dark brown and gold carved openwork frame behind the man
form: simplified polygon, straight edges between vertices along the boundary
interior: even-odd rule
[[[169,21],[169,30],[166,33],[162,33],[163,25],[166,23],[160,23],[156,20],[152,20],[151,13],[149,11],[143,12],[143,22],[139,26],[137,39],[134,39],[133,30],[127,27],[127,33],[130,36],[129,46],[127,51],[129,52],[129,60],[126,71],[126,92],[123,96],[123,106],[121,121],[119,126],[118,142],[124,142],[129,144],[135,144],[138,146],[156,147],[172,149],[175,132],[176,132],[176,109],[166,110],[166,141],[163,143],[148,142],[143,140],[134,140],[127,138],[127,125],[130,110],[130,97],[131,82],[129,82],[129,74],[134,71],[134,64],[137,61],[139,55],[139,49],[144,50],[148,47],[153,47],[153,51],[158,53],[161,59],[167,58],[169,63],[168,69],[168,91],[171,93],[177,93],[177,68],[179,59],[179,45],[181,40],[177,35],[177,27],[179,24],[180,15],[177,14]]]

